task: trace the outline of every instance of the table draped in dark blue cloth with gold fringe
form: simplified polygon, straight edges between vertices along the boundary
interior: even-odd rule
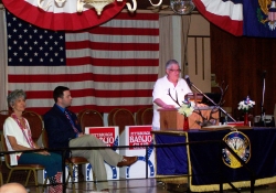
[[[232,131],[152,131],[157,144],[217,141],[230,132]],[[247,165],[255,173],[255,185],[276,182],[276,128],[252,128],[241,132],[250,141]],[[250,186],[250,172],[244,167],[236,169],[227,167],[222,152],[220,143],[157,148],[157,175],[188,174],[191,176],[188,183],[192,192],[217,191],[220,180],[223,181],[223,189],[230,189],[227,181],[236,187]]]

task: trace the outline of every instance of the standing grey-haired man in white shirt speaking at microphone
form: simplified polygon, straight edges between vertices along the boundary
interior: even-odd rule
[[[176,60],[166,63],[166,75],[159,78],[153,87],[153,119],[152,130],[160,130],[160,115],[158,108],[177,108],[188,93],[192,93],[187,82],[180,77],[180,66]]]

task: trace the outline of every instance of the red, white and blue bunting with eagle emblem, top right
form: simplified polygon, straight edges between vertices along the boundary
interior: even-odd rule
[[[210,22],[236,36],[276,37],[276,1],[193,0]]]

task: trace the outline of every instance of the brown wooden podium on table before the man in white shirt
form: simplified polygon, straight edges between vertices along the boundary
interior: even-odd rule
[[[203,106],[203,107],[195,107],[195,109],[201,110],[203,117],[209,118],[211,110],[213,109],[212,106]],[[184,116],[178,112],[177,108],[170,109],[158,109],[160,114],[160,130],[183,130],[184,124]],[[212,115],[215,118],[216,125],[219,125],[220,114],[219,110]],[[192,112],[189,120],[189,128],[190,129],[200,129],[201,127],[195,122],[195,120],[202,121],[201,116],[195,112]]]

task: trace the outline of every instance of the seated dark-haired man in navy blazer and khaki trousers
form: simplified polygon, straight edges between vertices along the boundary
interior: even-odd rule
[[[72,104],[70,88],[57,86],[54,89],[54,106],[44,115],[44,126],[49,136],[49,148],[104,147],[105,143],[92,135],[84,135],[76,115],[67,109]],[[68,156],[68,153],[67,153]],[[73,157],[84,157],[93,165],[97,178],[97,190],[107,191],[107,174],[104,165],[128,167],[137,157],[123,157],[112,149],[73,150]]]

